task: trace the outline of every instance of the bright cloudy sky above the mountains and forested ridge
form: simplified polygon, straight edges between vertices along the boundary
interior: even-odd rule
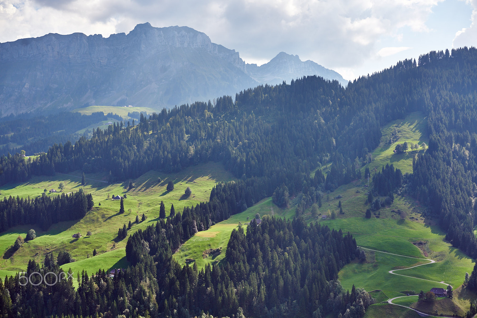
[[[477,46],[477,0],[0,0],[0,42],[188,26],[263,64],[280,51],[347,80],[432,50]]]

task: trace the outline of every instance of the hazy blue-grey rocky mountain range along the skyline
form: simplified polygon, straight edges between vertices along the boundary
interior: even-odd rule
[[[259,84],[319,75],[346,85],[340,74],[298,55],[246,64],[239,52],[188,27],[86,36],[47,34],[0,43],[1,116],[89,105],[171,107],[207,101]]]

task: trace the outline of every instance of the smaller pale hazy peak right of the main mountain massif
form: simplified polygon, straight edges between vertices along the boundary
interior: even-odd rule
[[[337,80],[343,86],[348,84],[348,81],[339,73],[310,60],[301,61],[298,55],[285,52],[280,52],[270,62],[260,66],[247,64],[247,72],[254,80],[262,84],[274,85],[281,84],[283,81],[288,83],[291,79],[304,75],[318,75],[328,80]]]

